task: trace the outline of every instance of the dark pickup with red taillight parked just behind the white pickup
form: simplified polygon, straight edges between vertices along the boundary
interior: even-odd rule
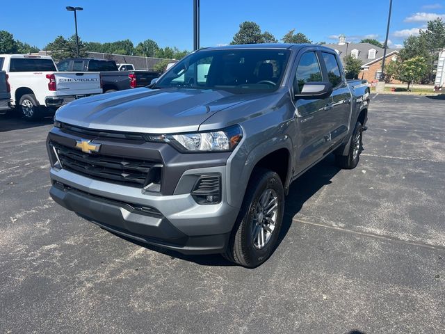
[[[115,61],[93,58],[70,58],[57,64],[59,71],[100,72],[104,93],[145,87],[161,73],[145,70],[120,71]]]

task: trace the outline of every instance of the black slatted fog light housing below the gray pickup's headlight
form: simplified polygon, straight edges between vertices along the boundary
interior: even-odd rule
[[[201,175],[195,182],[191,194],[197,204],[218,204],[221,202],[221,175]]]

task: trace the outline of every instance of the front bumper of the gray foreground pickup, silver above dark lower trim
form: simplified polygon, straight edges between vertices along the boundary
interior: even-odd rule
[[[225,166],[188,170],[221,173]],[[140,189],[51,168],[50,195],[58,204],[106,230],[125,237],[177,250],[184,254],[223,253],[238,209],[223,201],[198,205],[190,193],[172,196],[141,194]],[[182,180],[182,178],[181,178]],[[141,212],[139,207],[154,209]]]

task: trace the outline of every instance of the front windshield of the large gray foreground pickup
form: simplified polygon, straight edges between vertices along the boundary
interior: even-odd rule
[[[165,73],[156,88],[273,91],[280,86],[289,53],[284,49],[198,51]]]

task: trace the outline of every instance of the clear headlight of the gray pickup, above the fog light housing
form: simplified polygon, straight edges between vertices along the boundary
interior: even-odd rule
[[[168,134],[165,138],[185,152],[224,152],[232,151],[243,138],[239,125],[211,132],[195,134]]]

